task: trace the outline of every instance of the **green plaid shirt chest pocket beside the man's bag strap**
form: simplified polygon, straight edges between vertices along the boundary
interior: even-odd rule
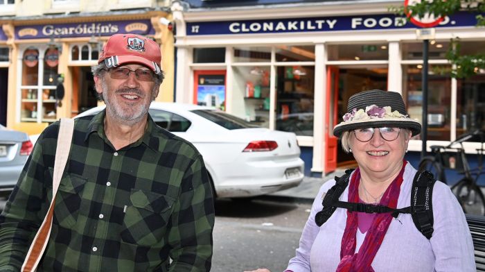
[[[50,178],[46,177],[47,198],[49,203],[52,201],[52,175],[53,169],[49,169]],[[60,181],[57,196],[55,197],[54,221],[64,228],[72,228],[78,221],[78,214],[81,210],[82,189],[84,189],[86,179],[81,176],[64,173]]]

